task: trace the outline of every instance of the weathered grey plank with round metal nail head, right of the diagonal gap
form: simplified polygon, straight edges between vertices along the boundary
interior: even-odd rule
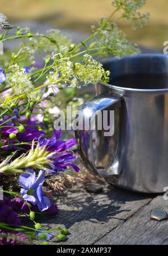
[[[153,208],[167,211],[167,207],[168,203],[162,196],[156,197],[96,244],[168,244],[168,221],[150,220],[150,211]]]

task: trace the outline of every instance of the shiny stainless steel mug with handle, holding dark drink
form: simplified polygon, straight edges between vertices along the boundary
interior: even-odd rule
[[[89,124],[76,131],[82,162],[117,187],[161,193],[168,187],[168,57],[139,54],[104,68],[110,83],[98,83],[78,112]],[[114,110],[114,135],[97,130],[94,150],[92,120],[105,109]]]

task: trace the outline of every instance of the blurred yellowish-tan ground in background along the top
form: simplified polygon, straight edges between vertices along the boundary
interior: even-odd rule
[[[1,12],[10,22],[41,21],[60,28],[90,31],[101,16],[108,16],[113,7],[110,0],[0,0]],[[147,0],[142,11],[151,13],[150,24],[143,29],[131,30],[129,23],[119,26],[129,39],[150,47],[163,48],[168,40],[168,2],[167,0]]]

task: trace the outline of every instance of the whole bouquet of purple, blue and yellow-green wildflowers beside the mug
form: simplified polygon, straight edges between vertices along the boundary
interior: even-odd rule
[[[43,35],[12,27],[0,14],[1,45],[18,40],[17,49],[4,50],[0,64],[0,244],[47,244],[54,236],[36,216],[58,212],[51,189],[82,179],[74,163],[76,140],[61,138],[62,131],[54,129],[54,113],[80,100],[76,92],[81,86],[109,81],[110,72],[96,56],[138,52],[116,20],[132,21],[133,29],[145,25],[148,13],[139,12],[144,3],[113,1],[115,11],[91,26],[91,35],[78,45],[59,30]],[[115,12],[120,13],[117,19]],[[42,63],[37,54],[45,56]],[[22,215],[30,218],[32,227],[22,225]],[[58,240],[67,235],[68,230],[57,227]]]

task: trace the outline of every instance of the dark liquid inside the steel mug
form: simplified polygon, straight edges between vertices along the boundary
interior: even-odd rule
[[[168,89],[168,74],[124,75],[111,79],[110,84],[132,89]]]

